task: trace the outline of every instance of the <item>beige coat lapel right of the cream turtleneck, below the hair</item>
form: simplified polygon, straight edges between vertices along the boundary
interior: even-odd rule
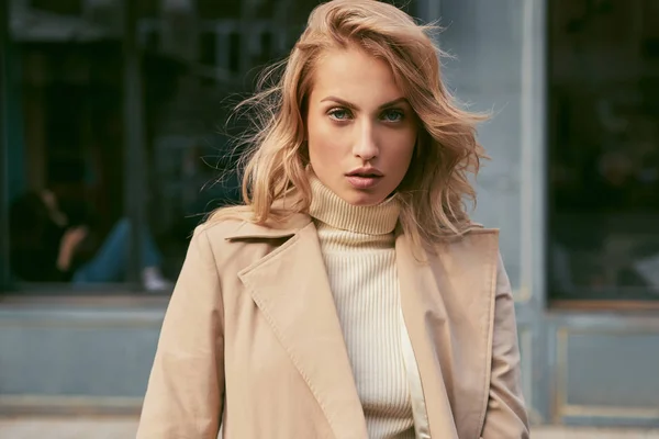
[[[401,303],[416,356],[431,437],[477,438],[488,403],[498,235],[492,230],[412,254],[396,238]]]

